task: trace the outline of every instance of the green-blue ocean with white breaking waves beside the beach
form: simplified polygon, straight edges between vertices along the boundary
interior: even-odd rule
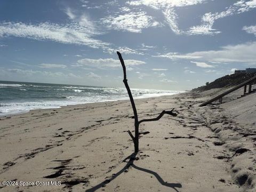
[[[131,89],[134,99],[172,95],[181,91]],[[129,99],[125,88],[0,81],[0,116],[31,109]]]

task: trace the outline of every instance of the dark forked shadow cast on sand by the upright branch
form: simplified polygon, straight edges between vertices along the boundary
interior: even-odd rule
[[[127,164],[123,167],[122,170],[118,171],[116,174],[113,174],[113,176],[110,179],[107,179],[107,180],[99,183],[97,186],[94,186],[94,187],[92,187],[90,189],[85,190],[85,192],[94,192],[94,191],[98,190],[99,188],[105,186],[107,183],[109,183],[109,182],[113,181],[115,178],[117,178],[120,174],[122,174],[130,166],[133,167],[134,169],[137,169],[137,170],[140,170],[140,171],[144,171],[144,172],[153,174],[156,177],[156,179],[158,180],[158,182],[161,183],[163,186],[173,188],[175,191],[179,192],[176,188],[181,188],[182,187],[181,183],[168,183],[168,182],[165,182],[160,177],[160,175],[158,175],[156,172],[148,170],[148,169],[144,169],[144,168],[141,168],[141,167],[138,167],[138,166],[134,165],[133,161],[136,159],[136,155],[137,155],[137,153],[132,153],[131,155],[126,157],[123,160],[123,162],[126,162],[126,160],[129,159],[129,158],[130,159],[127,162]]]

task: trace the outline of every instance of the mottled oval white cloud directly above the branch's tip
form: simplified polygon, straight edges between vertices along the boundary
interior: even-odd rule
[[[145,12],[129,12],[117,17],[108,16],[101,19],[107,27],[116,30],[141,33],[142,29],[159,25],[153,17],[146,15]]]

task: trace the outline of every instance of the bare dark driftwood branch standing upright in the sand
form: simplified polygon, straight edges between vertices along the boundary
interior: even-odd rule
[[[127,78],[126,78],[126,68],[125,68],[125,65],[124,65],[124,60],[122,58],[122,55],[121,53],[119,53],[117,51],[117,55],[119,57],[119,60],[121,62],[121,65],[123,67],[123,72],[124,72],[124,79],[123,79],[123,82],[124,82],[124,85],[125,85],[125,88],[127,90],[127,93],[129,95],[129,98],[130,98],[130,101],[131,101],[131,105],[132,105],[132,109],[133,109],[133,114],[134,114],[134,127],[135,127],[135,136],[132,135],[131,131],[128,131],[130,137],[132,138],[133,140],[133,143],[134,143],[134,152],[135,153],[138,153],[139,152],[139,135],[140,134],[144,134],[144,133],[139,133],[139,125],[140,123],[142,122],[147,122],[147,121],[157,121],[159,120],[164,114],[169,114],[169,115],[172,115],[172,116],[177,116],[177,114],[173,113],[173,109],[170,110],[170,111],[165,111],[163,110],[161,114],[158,115],[158,117],[156,118],[151,118],[151,119],[142,119],[141,121],[138,121],[138,114],[137,114],[137,109],[135,107],[135,103],[134,103],[134,100],[133,100],[133,97],[132,97],[132,93],[131,93],[131,90],[130,90],[130,87],[128,85],[128,82],[127,82]],[[149,132],[145,132],[145,134],[147,134]]]

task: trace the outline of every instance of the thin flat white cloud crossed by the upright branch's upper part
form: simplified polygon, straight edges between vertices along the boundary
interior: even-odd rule
[[[77,66],[83,67],[95,67],[99,69],[104,69],[104,68],[116,68],[116,67],[121,67],[121,63],[119,60],[116,59],[81,59],[77,61]],[[145,64],[146,62],[144,61],[139,61],[139,60],[124,60],[125,66],[135,66],[135,65],[142,65]]]

